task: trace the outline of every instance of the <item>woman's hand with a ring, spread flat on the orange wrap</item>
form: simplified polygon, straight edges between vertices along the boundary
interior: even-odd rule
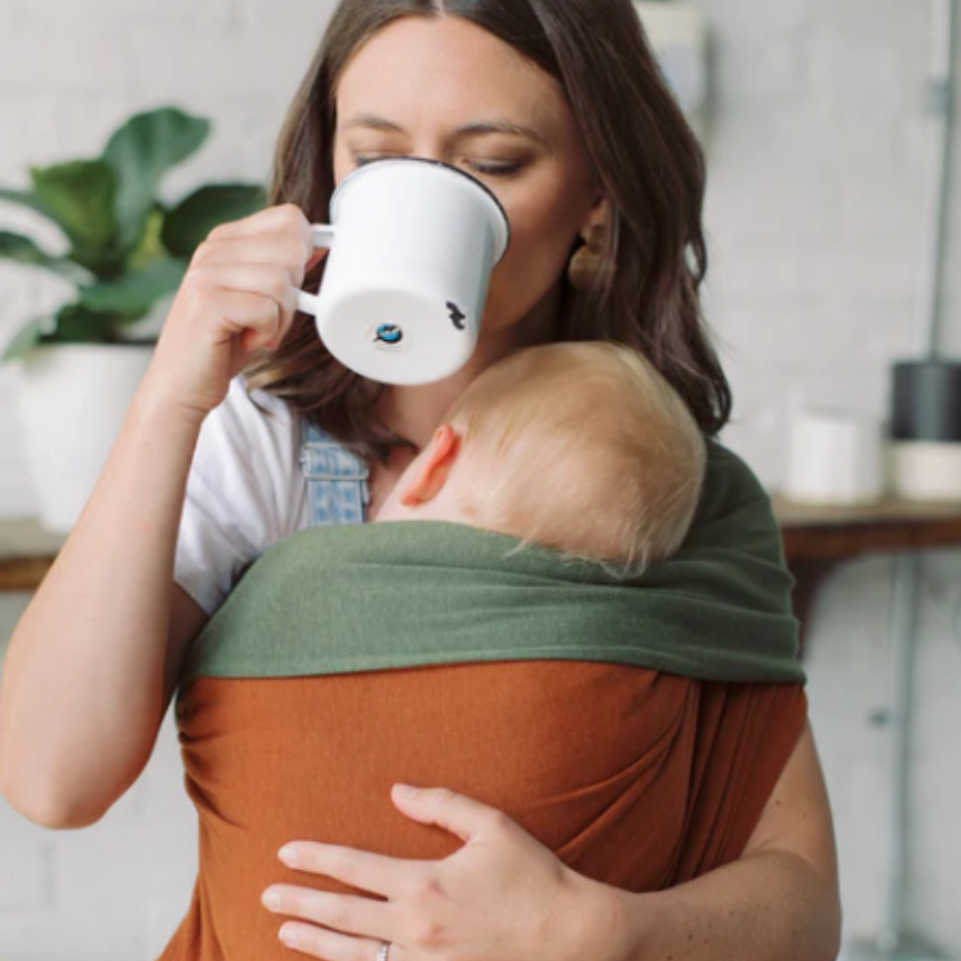
[[[618,923],[612,889],[568,869],[499,811],[446,790],[397,785],[408,818],[464,843],[442,861],[406,861],[301,841],[281,860],[383,900],[278,884],[264,904],[296,920],[281,940],[311,958],[378,961],[608,961]],[[319,927],[320,925],[320,927]],[[599,937],[603,943],[598,943]]]

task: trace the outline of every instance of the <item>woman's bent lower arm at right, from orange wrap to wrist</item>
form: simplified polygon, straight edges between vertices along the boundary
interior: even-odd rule
[[[837,958],[841,908],[834,831],[810,727],[740,860],[668,891],[605,893],[593,902],[599,912],[585,924],[594,934],[607,928],[605,961]]]

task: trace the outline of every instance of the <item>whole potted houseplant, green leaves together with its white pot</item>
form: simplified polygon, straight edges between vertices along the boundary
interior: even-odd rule
[[[161,202],[164,174],[209,134],[208,120],[160,108],[127,120],[100,157],[34,167],[29,190],[0,189],[0,200],[46,218],[67,242],[57,254],[0,229],[0,259],[51,271],[76,291],[51,316],[19,324],[0,356],[21,371],[27,462],[51,530],[76,521],[149,363],[153,338],[138,323],[172,296],[213,227],[266,203],[249,183],[207,184]]]

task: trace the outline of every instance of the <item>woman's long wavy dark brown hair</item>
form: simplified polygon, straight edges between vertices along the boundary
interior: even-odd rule
[[[728,381],[699,302],[707,271],[700,147],[651,53],[631,0],[341,0],[290,108],[278,144],[272,203],[322,220],[334,189],[336,89],[352,54],[401,17],[462,17],[554,78],[564,90],[611,222],[614,264],[578,293],[563,279],[559,340],[608,340],[640,350],[709,434],[730,417]],[[316,289],[323,266],[306,286]],[[298,314],[283,344],[248,370],[251,388],[288,399],[358,453],[384,459],[407,444],[377,417],[381,384],[328,353]]]

